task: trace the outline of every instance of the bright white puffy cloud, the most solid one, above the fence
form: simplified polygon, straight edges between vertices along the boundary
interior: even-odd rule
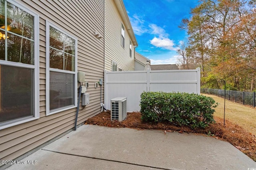
[[[164,49],[169,49],[169,50],[176,50],[177,47],[174,47],[174,42],[170,40],[169,38],[153,38],[150,40],[150,43],[156,47],[161,47]]]

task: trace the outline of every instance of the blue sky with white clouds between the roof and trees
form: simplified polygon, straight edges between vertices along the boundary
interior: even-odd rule
[[[186,31],[178,26],[190,18],[190,9],[198,0],[123,0],[138,47],[136,51],[151,64],[175,64],[180,41]]]

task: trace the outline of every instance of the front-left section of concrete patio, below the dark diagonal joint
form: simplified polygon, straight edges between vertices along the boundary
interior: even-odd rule
[[[37,161],[36,164],[28,164],[28,160]],[[27,164],[16,164],[8,168],[8,170],[156,170],[155,168],[86,158],[69,154],[60,154],[46,150],[38,150],[21,161],[26,161]]]

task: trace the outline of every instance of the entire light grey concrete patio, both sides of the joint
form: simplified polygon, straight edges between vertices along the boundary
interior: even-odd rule
[[[195,134],[83,125],[12,169],[248,170],[256,162],[228,142]]]

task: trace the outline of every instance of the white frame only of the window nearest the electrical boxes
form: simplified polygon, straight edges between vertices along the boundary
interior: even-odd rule
[[[66,71],[66,70],[61,70],[61,69],[50,68],[50,26],[75,40],[75,46],[76,46],[75,47],[75,61],[74,61],[75,62],[75,71]],[[77,42],[78,42],[78,39],[76,37],[70,35],[68,32],[62,30],[58,26],[56,26],[53,23],[46,20],[46,116],[77,107],[77,98],[78,98],[77,97],[77,51],[78,51],[78,43]],[[60,108],[60,109],[54,109],[54,111],[50,112],[50,71],[55,71],[58,73],[74,74],[75,82],[74,82],[74,105],[73,106]]]

